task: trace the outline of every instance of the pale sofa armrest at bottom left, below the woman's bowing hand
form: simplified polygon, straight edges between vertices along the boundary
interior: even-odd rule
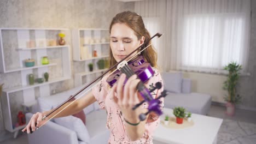
[[[26,113],[26,121],[32,117],[32,113]],[[77,134],[68,128],[62,127],[54,122],[47,122],[45,125],[28,134],[28,143],[61,143],[61,144],[78,144]]]

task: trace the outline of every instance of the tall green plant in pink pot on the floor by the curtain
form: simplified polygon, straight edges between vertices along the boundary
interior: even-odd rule
[[[236,85],[239,79],[239,71],[242,69],[242,65],[236,62],[231,62],[224,67],[228,70],[228,79],[223,83],[223,89],[228,91],[224,100],[226,101],[226,115],[233,116],[235,114],[235,104],[238,104],[241,100],[239,94],[236,94]]]

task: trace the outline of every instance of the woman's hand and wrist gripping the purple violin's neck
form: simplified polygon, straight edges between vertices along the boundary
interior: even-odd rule
[[[137,79],[137,75],[132,75],[124,86],[125,78],[126,75],[121,74],[119,81],[112,87],[110,95],[119,106],[123,117],[131,123],[138,123],[142,109],[132,110],[132,107],[139,103],[140,95],[136,87],[140,80]]]

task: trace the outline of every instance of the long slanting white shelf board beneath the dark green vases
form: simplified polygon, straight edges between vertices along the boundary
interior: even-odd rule
[[[71,79],[71,77],[60,77],[60,78],[56,78],[56,79],[53,79],[53,80],[48,81],[48,82],[35,83],[34,85],[6,88],[6,89],[3,89],[3,92],[12,93],[12,92],[21,91],[21,90],[28,89],[28,88],[34,88],[34,87],[39,87],[39,86],[43,86],[43,85],[48,85],[50,83],[54,83],[54,82],[58,82],[58,81],[64,81],[64,80],[68,80],[68,79]]]

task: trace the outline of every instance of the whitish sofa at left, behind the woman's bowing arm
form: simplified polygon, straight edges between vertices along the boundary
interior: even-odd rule
[[[53,109],[65,101],[70,95],[78,92],[82,87],[70,89],[69,91],[38,98],[38,111]],[[86,115],[86,126],[83,122],[73,116],[56,118],[49,121],[43,127],[28,134],[30,144],[61,143],[61,144],[82,144],[82,143],[107,143],[109,131],[106,128],[107,114],[100,110],[97,101],[84,109]],[[33,114],[26,113],[28,122]],[[79,136],[82,139],[79,139]]]

